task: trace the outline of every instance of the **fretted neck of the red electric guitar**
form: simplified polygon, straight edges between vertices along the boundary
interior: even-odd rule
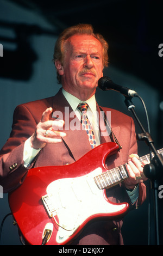
[[[160,149],[157,152],[159,154],[163,154],[163,149]],[[152,157],[154,157],[153,153],[152,153]],[[145,160],[149,161],[150,154],[140,157],[139,160],[140,160],[140,162],[145,161]],[[121,166],[118,166],[111,170],[107,170],[106,172],[95,176],[94,180],[95,180],[98,188],[100,190],[102,190],[104,188],[109,188],[109,187],[115,186],[118,183],[122,182],[123,180],[127,179],[128,173],[126,170],[126,165],[127,165],[127,163],[122,164]]]

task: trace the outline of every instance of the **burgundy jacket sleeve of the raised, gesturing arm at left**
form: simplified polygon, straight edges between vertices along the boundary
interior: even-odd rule
[[[28,168],[24,167],[23,149],[35,127],[36,121],[28,109],[23,105],[16,107],[10,138],[0,151],[0,184],[4,193],[20,186],[34,164],[33,161]]]

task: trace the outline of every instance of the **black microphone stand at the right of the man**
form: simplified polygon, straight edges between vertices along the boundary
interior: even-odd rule
[[[140,97],[137,95],[137,97]],[[152,159],[152,154],[150,154],[150,163],[146,164],[143,168],[143,173],[146,175],[146,177],[151,181],[151,189],[153,190],[153,200],[154,200],[154,234],[155,234],[155,245],[159,245],[159,213],[158,213],[158,180],[162,176],[162,170],[163,170],[163,159],[162,156],[156,151],[154,145],[153,145],[153,139],[149,132],[146,132],[144,127],[142,126],[139,118],[137,117],[135,113],[135,106],[133,102],[131,101],[131,97],[126,97],[126,100],[124,102],[126,103],[126,106],[129,111],[131,111],[139,124],[142,133],[139,133],[136,135],[137,141],[145,141],[147,145],[149,146],[150,151],[153,151],[154,157]],[[151,240],[150,240],[151,241]],[[150,243],[149,241],[149,243]]]

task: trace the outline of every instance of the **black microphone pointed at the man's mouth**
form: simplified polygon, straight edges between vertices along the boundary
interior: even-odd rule
[[[118,93],[122,93],[126,97],[136,97],[138,94],[127,87],[118,86],[118,84],[111,81],[107,76],[103,76],[98,80],[98,87],[101,90],[115,90]]]

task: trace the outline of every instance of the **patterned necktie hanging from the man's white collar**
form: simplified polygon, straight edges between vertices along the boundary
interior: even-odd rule
[[[95,135],[91,126],[91,123],[89,121],[89,119],[87,118],[87,108],[89,106],[87,105],[87,103],[79,103],[78,105],[78,109],[80,112],[82,112],[82,119],[81,119],[81,123],[83,124],[84,129],[86,130],[87,136],[89,138],[89,142],[91,144],[91,148],[95,148],[97,147],[96,145],[96,139],[95,139]]]

